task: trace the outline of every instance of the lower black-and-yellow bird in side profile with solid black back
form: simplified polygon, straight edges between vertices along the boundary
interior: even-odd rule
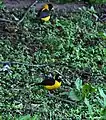
[[[42,85],[47,90],[51,91],[60,88],[61,83],[62,83],[61,75],[57,73],[55,77],[53,77],[53,75],[45,76],[42,82],[36,83],[35,85]]]

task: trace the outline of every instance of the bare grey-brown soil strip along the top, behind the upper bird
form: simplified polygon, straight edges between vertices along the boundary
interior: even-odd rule
[[[35,0],[5,0],[4,2],[7,8],[25,8],[30,6],[34,1]],[[44,2],[37,3],[36,10],[39,10],[43,4]],[[56,10],[68,10],[71,12],[76,11],[80,7],[86,6],[84,3],[55,4],[53,2],[52,4]]]

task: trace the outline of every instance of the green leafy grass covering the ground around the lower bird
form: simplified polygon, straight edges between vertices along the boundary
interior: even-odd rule
[[[14,14],[21,16],[23,12]],[[105,120],[106,25],[96,22],[94,14],[84,8],[68,18],[59,17],[54,25],[39,27],[30,11],[19,26],[5,24],[0,61],[22,65],[12,64],[12,74],[0,73],[0,119]],[[48,96],[43,87],[31,86],[42,78],[40,69],[30,64],[47,64],[40,69],[63,74],[55,97]]]

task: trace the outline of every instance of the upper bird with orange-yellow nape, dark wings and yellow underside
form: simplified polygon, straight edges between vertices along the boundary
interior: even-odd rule
[[[44,4],[43,7],[38,11],[37,18],[41,22],[47,22],[50,20],[50,11],[53,9],[53,5],[48,3]]]

